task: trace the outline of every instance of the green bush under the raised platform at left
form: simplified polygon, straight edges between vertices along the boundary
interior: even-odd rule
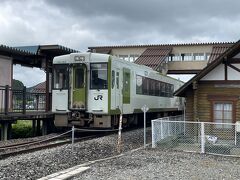
[[[16,124],[12,125],[12,138],[28,138],[32,137],[32,121],[19,120]]]

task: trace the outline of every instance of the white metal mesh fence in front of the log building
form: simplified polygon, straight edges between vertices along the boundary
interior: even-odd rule
[[[152,120],[152,147],[240,156],[239,124],[182,120],[181,116]]]

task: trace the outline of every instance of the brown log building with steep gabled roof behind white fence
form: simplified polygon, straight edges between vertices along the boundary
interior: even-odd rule
[[[240,41],[210,62],[175,95],[186,98],[186,121],[240,121]]]

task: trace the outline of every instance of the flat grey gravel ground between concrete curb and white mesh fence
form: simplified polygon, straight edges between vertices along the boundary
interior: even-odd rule
[[[141,149],[90,165],[78,179],[240,179],[240,159]]]

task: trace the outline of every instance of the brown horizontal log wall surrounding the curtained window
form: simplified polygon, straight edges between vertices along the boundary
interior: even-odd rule
[[[194,90],[186,93],[186,121],[194,120]],[[197,89],[197,120],[213,121],[214,101],[233,102],[233,123],[240,120],[240,82],[204,82],[200,81]]]

